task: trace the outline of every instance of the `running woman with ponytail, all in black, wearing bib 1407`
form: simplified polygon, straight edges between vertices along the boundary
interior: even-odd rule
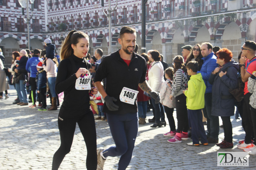
[[[60,148],[52,160],[52,170],[59,168],[65,155],[70,152],[76,129],[76,122],[84,137],[87,148],[86,167],[88,170],[97,168],[97,144],[94,116],[90,107],[89,92],[91,76],[87,75],[91,64],[84,59],[89,50],[89,36],[73,30],[63,41],[61,59],[56,78],[55,91],[64,92],[64,99],[58,116],[60,130]]]

